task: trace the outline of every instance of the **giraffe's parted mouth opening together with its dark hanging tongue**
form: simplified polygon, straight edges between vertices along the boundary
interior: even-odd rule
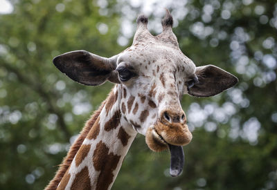
[[[152,136],[159,143],[168,146],[170,150],[170,175],[172,177],[179,176],[184,168],[185,155],[184,155],[183,147],[169,144],[168,142],[166,142],[166,140],[164,140],[163,137],[159,135],[159,133],[157,133],[154,127],[152,129]]]

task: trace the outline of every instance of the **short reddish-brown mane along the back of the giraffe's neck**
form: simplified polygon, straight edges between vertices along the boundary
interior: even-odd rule
[[[64,177],[64,173],[66,173],[67,169],[69,169],[71,162],[73,161],[76,153],[80,149],[80,146],[82,145],[82,142],[84,142],[84,139],[87,137],[87,134],[91,130],[91,127],[96,122],[98,116],[100,115],[102,108],[105,106],[106,100],[102,102],[101,106],[99,106],[97,111],[94,111],[93,115],[89,120],[87,120],[86,124],[84,125],[79,137],[71,148],[69,149],[69,152],[67,153],[66,157],[62,160],[62,164],[59,165],[59,169],[55,173],[55,177],[44,190],[54,190],[57,189],[57,186],[60,184],[60,181]]]

